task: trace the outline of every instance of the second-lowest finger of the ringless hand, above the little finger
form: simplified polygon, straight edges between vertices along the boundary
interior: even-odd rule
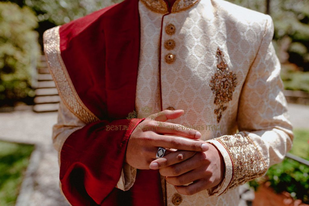
[[[166,177],[166,181],[172,185],[180,186],[188,183],[192,183],[198,179],[210,178],[211,174],[199,170],[192,170],[190,172],[181,174],[176,177]]]

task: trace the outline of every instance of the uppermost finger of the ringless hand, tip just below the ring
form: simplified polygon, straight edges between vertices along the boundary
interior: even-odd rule
[[[150,163],[149,168],[152,170],[160,169],[162,167],[170,166],[179,162],[182,162],[188,158],[193,157],[196,153],[194,151],[182,151],[177,150],[176,152],[169,152],[166,150],[165,156],[159,159],[156,159]]]

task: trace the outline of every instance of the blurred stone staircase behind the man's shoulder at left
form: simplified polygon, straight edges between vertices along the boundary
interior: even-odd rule
[[[40,57],[37,72],[36,96],[34,98],[35,105],[33,111],[57,111],[60,97],[58,96],[57,88],[47,68],[47,62],[44,55]]]

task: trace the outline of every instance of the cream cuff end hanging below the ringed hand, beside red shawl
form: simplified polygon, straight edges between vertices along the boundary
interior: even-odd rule
[[[135,182],[135,177],[136,168],[125,163],[121,171],[121,177],[117,183],[117,188],[123,191],[129,190]]]

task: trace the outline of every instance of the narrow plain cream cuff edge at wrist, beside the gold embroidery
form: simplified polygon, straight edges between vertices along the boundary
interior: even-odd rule
[[[233,164],[232,164],[229,153],[219,141],[207,140],[206,142],[214,145],[220,151],[223,157],[223,160],[224,160],[224,164],[225,164],[224,179],[218,185],[218,187],[216,187],[214,190],[213,189],[208,190],[208,194],[210,196],[218,196],[218,195],[221,195],[225,191],[226,187],[231,182],[232,174],[233,174]]]

